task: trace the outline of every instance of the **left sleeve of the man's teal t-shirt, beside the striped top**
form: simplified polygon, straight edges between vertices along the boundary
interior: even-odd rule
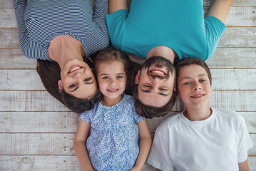
[[[122,40],[125,31],[126,19],[128,11],[125,9],[118,10],[113,14],[106,15],[108,33],[111,38],[111,43],[115,48],[123,51]]]

